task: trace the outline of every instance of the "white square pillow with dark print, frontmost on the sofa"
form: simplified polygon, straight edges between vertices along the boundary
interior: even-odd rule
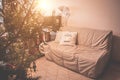
[[[77,32],[64,32],[62,34],[60,45],[75,45]]]

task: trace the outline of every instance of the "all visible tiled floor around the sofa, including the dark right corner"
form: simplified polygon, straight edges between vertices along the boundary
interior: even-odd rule
[[[32,72],[31,76],[39,77],[39,80],[94,80],[48,61],[45,57],[36,60],[36,64],[37,71]],[[111,66],[106,73],[99,80],[120,80],[120,66]]]

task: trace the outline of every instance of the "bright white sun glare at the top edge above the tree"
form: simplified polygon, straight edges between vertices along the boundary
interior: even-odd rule
[[[53,2],[51,0],[38,0],[37,10],[42,11],[43,15],[51,15],[53,10]]]

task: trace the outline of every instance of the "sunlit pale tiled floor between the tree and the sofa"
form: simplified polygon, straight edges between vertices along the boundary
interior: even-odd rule
[[[36,60],[36,64],[37,71],[32,72],[32,76],[40,77],[39,80],[93,80],[48,61],[45,57]]]

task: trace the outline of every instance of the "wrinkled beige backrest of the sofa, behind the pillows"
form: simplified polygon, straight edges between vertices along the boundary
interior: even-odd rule
[[[78,45],[99,49],[110,49],[111,47],[112,31],[77,27],[62,27],[61,30],[78,32]]]

